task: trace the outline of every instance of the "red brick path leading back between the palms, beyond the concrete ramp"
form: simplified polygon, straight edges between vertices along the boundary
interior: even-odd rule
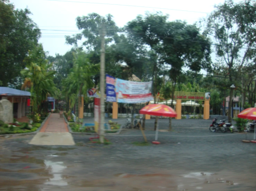
[[[64,133],[69,130],[67,123],[64,118],[60,118],[59,113],[51,113],[40,132]]]

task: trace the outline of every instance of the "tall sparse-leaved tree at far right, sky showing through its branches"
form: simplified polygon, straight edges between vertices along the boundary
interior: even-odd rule
[[[250,1],[239,4],[232,0],[216,6],[207,18],[205,34],[214,39],[216,56],[228,70],[228,86],[236,79],[235,73],[255,58],[255,3]],[[233,89],[230,90],[233,97]],[[230,99],[231,100],[231,99]],[[228,120],[231,122],[232,102],[229,102]]]

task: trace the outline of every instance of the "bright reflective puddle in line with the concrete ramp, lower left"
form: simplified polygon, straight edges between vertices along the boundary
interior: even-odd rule
[[[48,185],[57,185],[57,186],[66,186],[68,183],[62,178],[62,171],[67,168],[63,162],[52,162],[50,160],[44,160],[45,165],[48,168],[51,168],[51,173],[53,178],[50,178],[45,184]]]

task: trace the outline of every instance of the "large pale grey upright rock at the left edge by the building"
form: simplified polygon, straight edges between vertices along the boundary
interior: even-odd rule
[[[0,100],[0,120],[13,123],[12,103],[8,100]]]

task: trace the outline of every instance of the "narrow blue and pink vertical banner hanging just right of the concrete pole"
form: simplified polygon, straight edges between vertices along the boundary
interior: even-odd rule
[[[106,101],[116,102],[115,78],[106,74]]]

